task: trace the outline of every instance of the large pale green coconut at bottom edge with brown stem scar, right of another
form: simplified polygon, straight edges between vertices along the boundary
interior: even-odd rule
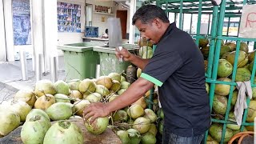
[[[73,122],[56,122],[47,131],[43,140],[44,144],[83,144],[83,134]]]

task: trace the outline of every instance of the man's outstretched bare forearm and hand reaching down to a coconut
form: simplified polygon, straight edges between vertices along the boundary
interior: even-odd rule
[[[147,81],[144,78],[138,78],[130,87],[122,93],[118,98],[115,98],[114,101],[109,103],[91,103],[84,110],[84,119],[87,120],[91,117],[90,122],[94,122],[94,120],[98,117],[106,117],[112,111],[120,110],[123,107],[129,106],[130,104],[136,102],[139,98],[142,97],[143,94],[146,93],[147,90],[150,90],[154,84],[152,82]]]

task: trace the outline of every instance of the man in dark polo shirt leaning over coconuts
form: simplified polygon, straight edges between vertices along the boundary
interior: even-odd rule
[[[130,61],[142,69],[142,75],[123,94],[109,103],[91,104],[84,114],[91,118],[105,117],[114,110],[136,102],[147,90],[157,85],[165,114],[163,143],[202,142],[210,127],[210,104],[206,94],[202,54],[193,39],[170,24],[158,6],[142,6],[133,17],[133,25],[142,37],[157,48],[150,59],[116,50],[118,58]]]

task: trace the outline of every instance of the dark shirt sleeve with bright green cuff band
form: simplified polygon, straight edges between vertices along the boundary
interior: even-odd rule
[[[140,77],[162,86],[163,82],[181,66],[182,58],[178,52],[161,52],[154,54]]]

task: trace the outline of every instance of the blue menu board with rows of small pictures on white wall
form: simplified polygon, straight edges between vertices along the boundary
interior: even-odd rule
[[[58,32],[81,33],[81,5],[58,2]]]

